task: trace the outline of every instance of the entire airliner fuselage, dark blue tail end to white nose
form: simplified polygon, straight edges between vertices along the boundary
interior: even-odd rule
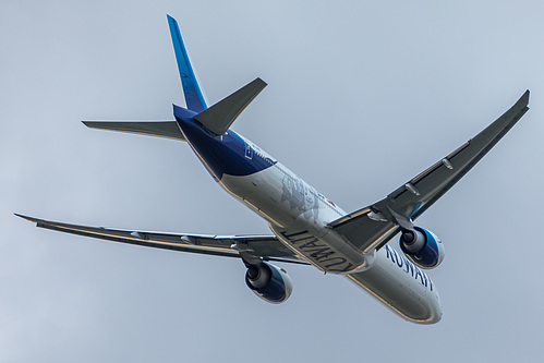
[[[408,320],[431,324],[440,319],[436,289],[406,256],[388,245],[363,254],[328,227],[346,211],[257,145],[231,130],[214,134],[182,113],[177,119],[214,179],[266,219],[295,256],[322,271],[346,276]]]

